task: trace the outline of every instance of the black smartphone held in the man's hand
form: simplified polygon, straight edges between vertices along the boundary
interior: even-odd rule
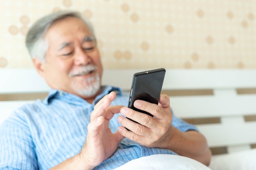
[[[132,108],[133,110],[153,117],[150,113],[135,108],[133,103],[135,100],[140,99],[158,104],[164,82],[164,75],[164,68],[135,73],[132,78],[128,108]]]

